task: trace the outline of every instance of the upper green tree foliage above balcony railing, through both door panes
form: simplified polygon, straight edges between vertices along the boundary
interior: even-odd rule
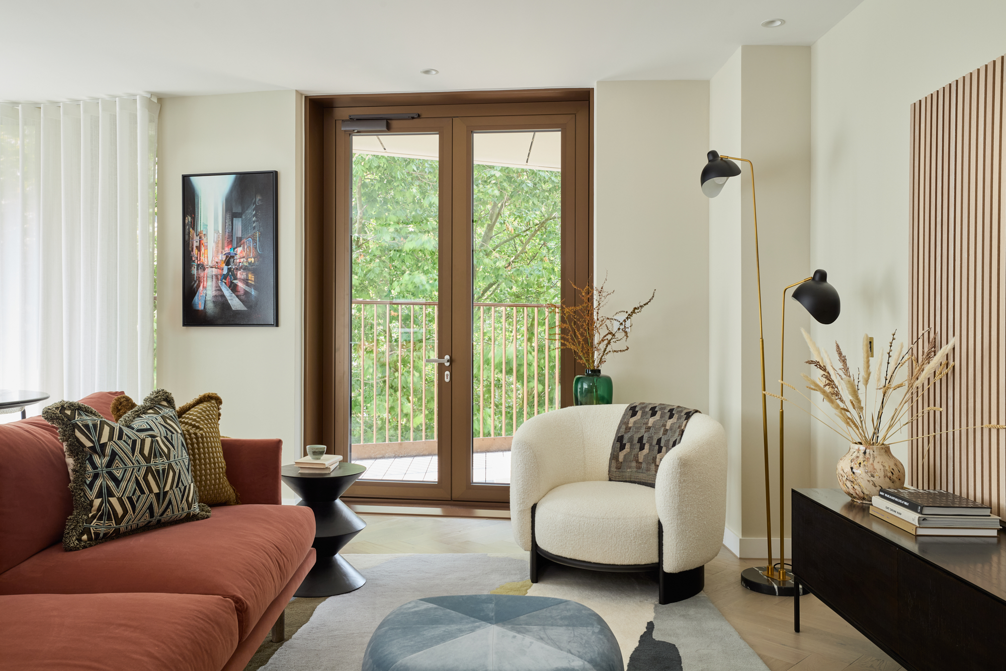
[[[437,300],[438,170],[433,160],[354,154],[353,298]],[[473,176],[473,299],[557,301],[560,173],[475,165]]]

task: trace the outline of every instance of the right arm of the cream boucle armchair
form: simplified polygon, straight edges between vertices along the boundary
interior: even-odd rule
[[[664,526],[664,570],[697,568],[723,543],[726,524],[726,432],[708,415],[688,420],[681,438],[660,463],[655,488]]]

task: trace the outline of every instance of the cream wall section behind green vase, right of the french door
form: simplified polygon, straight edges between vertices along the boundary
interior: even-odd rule
[[[661,401],[708,412],[708,205],[698,189],[708,82],[599,82],[595,277],[611,310],[657,290],[629,352],[604,371],[615,402]]]

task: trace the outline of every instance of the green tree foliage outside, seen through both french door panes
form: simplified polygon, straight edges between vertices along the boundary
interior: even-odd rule
[[[439,162],[417,158],[353,155],[352,295],[354,300],[437,301],[439,257]],[[549,303],[559,299],[561,175],[556,171],[475,165],[473,175],[473,301]],[[456,223],[464,222],[462,216]],[[534,308],[524,340],[524,311],[476,307],[475,430],[485,435],[513,432],[513,413],[524,395],[528,416],[543,411],[546,377],[555,403],[555,364],[534,369]],[[434,389],[438,367],[423,359],[439,356],[434,342],[436,308],[354,305],[352,319],[353,437],[357,442],[433,439]],[[478,319],[489,319],[480,344]],[[420,321],[426,316],[426,327]],[[513,337],[519,321],[518,339]],[[548,346],[546,317],[538,319],[538,355]],[[481,367],[479,359],[482,360]],[[528,361],[527,389],[524,361]],[[481,373],[480,373],[481,371]],[[537,373],[537,381],[535,381]],[[518,380],[513,394],[514,376]],[[495,379],[496,394],[490,394]],[[509,391],[503,400],[504,385]],[[535,396],[535,386],[538,388]],[[426,392],[422,391],[425,388]],[[483,388],[483,411],[478,408]],[[425,404],[425,406],[424,406]],[[399,409],[400,408],[400,409]],[[502,424],[504,408],[507,426]],[[399,419],[400,417],[400,419]],[[481,417],[481,419],[480,419]],[[490,426],[494,428],[490,429]]]

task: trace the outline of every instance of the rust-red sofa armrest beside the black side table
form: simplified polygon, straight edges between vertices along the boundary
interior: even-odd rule
[[[279,438],[221,438],[227,480],[242,504],[282,502],[280,466],[283,441]]]

